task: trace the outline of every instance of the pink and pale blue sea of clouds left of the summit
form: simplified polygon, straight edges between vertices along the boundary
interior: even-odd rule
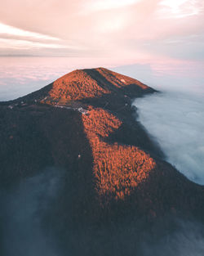
[[[34,92],[73,70],[109,67],[109,59],[68,57],[1,57],[0,101]]]

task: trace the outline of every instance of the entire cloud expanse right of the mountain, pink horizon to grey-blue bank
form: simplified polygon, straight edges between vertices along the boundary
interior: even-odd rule
[[[177,70],[176,70],[177,68]],[[204,185],[204,76],[202,66],[149,65],[115,69],[157,89],[135,99],[141,124],[157,141],[166,160],[193,182]]]

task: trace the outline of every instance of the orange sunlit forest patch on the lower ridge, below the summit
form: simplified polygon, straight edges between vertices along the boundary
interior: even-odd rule
[[[123,200],[135,186],[149,176],[155,167],[153,159],[135,146],[110,144],[104,141],[122,122],[108,111],[91,109],[82,116],[86,135],[90,141],[95,174],[95,188],[100,196],[110,200]]]

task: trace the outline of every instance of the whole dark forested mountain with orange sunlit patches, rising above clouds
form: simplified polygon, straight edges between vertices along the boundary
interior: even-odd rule
[[[144,231],[155,239],[177,218],[204,222],[204,187],[168,164],[136,120],[132,100],[155,92],[98,68],[1,102],[1,187],[62,170],[43,222],[72,255],[143,255]]]

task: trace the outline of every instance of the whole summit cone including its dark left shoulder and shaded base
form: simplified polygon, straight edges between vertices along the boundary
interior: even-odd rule
[[[70,101],[97,100],[104,104],[105,97],[109,97],[109,101],[111,97],[115,102],[119,97],[140,97],[149,92],[156,91],[136,79],[99,67],[73,70],[46,87],[10,102],[41,102],[53,105],[67,104]]]

